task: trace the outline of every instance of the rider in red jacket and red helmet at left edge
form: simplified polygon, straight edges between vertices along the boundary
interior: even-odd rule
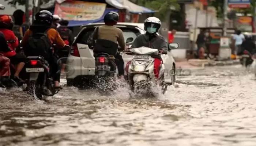
[[[15,51],[16,47],[19,46],[19,41],[12,31],[13,26],[14,23],[11,16],[0,15],[0,31],[3,32],[5,40],[10,48],[9,50],[3,51],[2,54],[10,59],[11,64],[16,65],[13,79],[18,82],[19,85],[22,85],[23,81],[19,78],[19,73],[25,65],[26,56]]]

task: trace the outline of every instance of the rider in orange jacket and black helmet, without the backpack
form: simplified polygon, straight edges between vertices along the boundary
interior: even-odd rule
[[[33,33],[45,33],[49,39],[49,43],[52,46],[53,44],[56,44],[56,49],[69,49],[68,45],[65,45],[63,39],[61,39],[59,32],[55,30],[54,28],[51,28],[53,22],[53,15],[51,12],[43,10],[38,12],[35,15],[35,20],[33,22],[33,25],[30,26],[29,30],[25,32],[25,35],[23,36],[21,45],[26,50],[26,46],[29,45],[29,37],[33,36]],[[30,52],[29,50],[25,52]],[[32,54],[33,55],[33,54]],[[40,54],[39,54],[40,55]],[[49,57],[45,57],[45,59],[50,64],[50,72],[51,76],[54,80],[54,85],[56,89],[60,89],[60,71],[59,71],[59,65],[57,63],[58,58],[53,54],[53,51],[48,53]],[[29,56],[29,55],[28,55]]]

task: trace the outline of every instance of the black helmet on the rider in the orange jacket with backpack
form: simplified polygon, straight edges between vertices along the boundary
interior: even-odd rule
[[[42,10],[35,14],[35,21],[43,25],[51,25],[53,21],[52,13],[46,10]]]

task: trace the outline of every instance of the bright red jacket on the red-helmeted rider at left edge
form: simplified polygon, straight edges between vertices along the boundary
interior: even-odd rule
[[[8,46],[12,50],[10,52],[4,52],[3,55],[6,57],[11,57],[16,55],[15,49],[16,47],[19,46],[18,38],[15,36],[14,32],[11,30],[0,28],[0,31],[3,32],[6,41],[7,42],[10,41],[10,43],[8,43]]]

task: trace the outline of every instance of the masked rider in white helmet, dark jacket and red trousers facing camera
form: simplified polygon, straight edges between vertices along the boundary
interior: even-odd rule
[[[149,17],[144,21],[144,30],[146,30],[146,34],[139,35],[133,42],[131,48],[138,47],[150,47],[152,49],[158,49],[160,53],[168,50],[167,42],[163,38],[163,36],[158,34],[158,30],[161,27],[160,19],[156,17]],[[154,61],[154,73],[155,77],[158,78],[159,75],[159,66],[162,63],[161,57],[155,56]]]

